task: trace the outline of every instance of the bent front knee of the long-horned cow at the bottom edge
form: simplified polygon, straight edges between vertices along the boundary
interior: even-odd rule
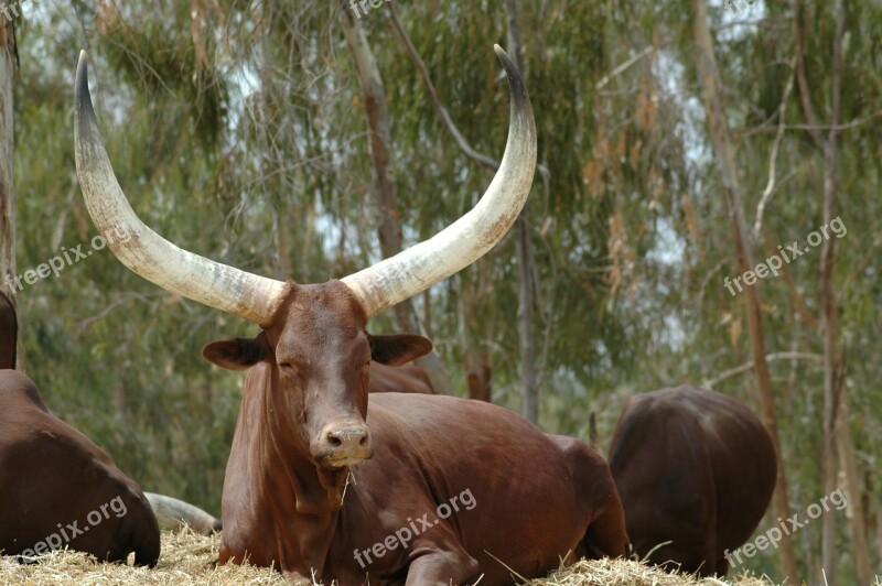
[[[477,561],[459,543],[417,545],[410,560],[407,586],[472,584],[481,576]]]

